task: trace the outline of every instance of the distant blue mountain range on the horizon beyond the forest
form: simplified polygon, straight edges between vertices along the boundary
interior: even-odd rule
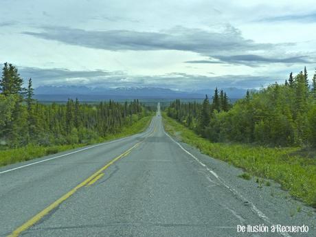
[[[246,90],[224,89],[229,98],[242,98]],[[214,89],[198,91],[174,91],[159,87],[85,87],[85,86],[41,86],[35,89],[35,98],[41,101],[65,101],[78,98],[82,101],[126,100],[126,99],[201,99],[205,94],[212,96]]]

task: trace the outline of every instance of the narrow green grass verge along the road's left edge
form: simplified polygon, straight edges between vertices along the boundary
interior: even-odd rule
[[[0,166],[6,166],[11,163],[17,163],[21,161],[28,161],[37,157],[43,157],[45,155],[52,155],[60,153],[64,150],[70,150],[81,146],[87,146],[89,144],[106,142],[109,140],[117,139],[120,137],[127,137],[135,133],[144,131],[150,124],[152,116],[142,117],[142,119],[135,122],[132,126],[126,126],[122,128],[120,133],[106,136],[104,139],[98,139],[85,144],[71,144],[71,145],[60,145],[60,146],[38,146],[34,144],[27,145],[21,148],[14,148],[8,150],[0,150]]]

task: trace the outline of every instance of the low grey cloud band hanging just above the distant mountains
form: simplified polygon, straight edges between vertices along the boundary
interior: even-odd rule
[[[19,70],[23,78],[32,78],[34,87],[43,84],[89,87],[162,87],[192,91],[201,88],[238,87],[254,88],[275,82],[267,76],[201,76],[173,73],[156,76],[128,76],[124,71],[70,71],[67,69],[41,69],[23,67]]]

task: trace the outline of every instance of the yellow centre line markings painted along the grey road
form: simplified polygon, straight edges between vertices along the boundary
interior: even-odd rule
[[[154,132],[155,132],[155,130],[153,131],[153,133]],[[150,135],[153,133],[150,133]],[[150,135],[148,135],[148,137]],[[142,142],[144,142],[144,140]],[[92,174],[88,179],[84,180],[82,183],[77,185],[75,188],[73,188],[72,190],[67,192],[67,194],[62,196],[60,199],[54,201],[54,203],[52,203],[51,205],[46,207],[44,210],[42,210],[41,212],[39,212],[38,214],[33,216],[29,221],[25,222],[23,225],[21,225],[20,227],[15,229],[14,232],[12,232],[9,235],[9,237],[19,236],[19,234],[21,234],[21,232],[24,232],[25,230],[27,230],[30,227],[32,227],[33,225],[35,225],[38,221],[41,220],[41,218],[43,218],[45,215],[49,214],[49,212],[52,212],[52,210],[54,210],[54,208],[58,207],[58,205],[60,205],[60,203],[63,203],[63,201],[68,199],[71,195],[73,195],[75,192],[77,192],[80,188],[82,188],[84,186],[89,186],[89,185],[95,183],[95,181],[97,181],[98,179],[100,179],[104,175],[104,173],[102,173],[102,172],[104,170],[106,170],[106,168],[109,168],[109,166],[111,166],[113,163],[115,163],[115,161],[117,161],[117,160],[121,159],[122,157],[125,157],[126,155],[131,153],[131,150],[133,150],[133,148],[136,148],[137,146],[139,146],[139,144],[141,144],[142,142],[138,142],[137,144],[135,144],[134,146],[132,146],[131,148],[126,150],[124,153],[122,153],[118,157],[115,157],[114,159],[112,159],[109,163],[107,163],[105,166],[100,168],[100,170],[98,170],[97,172]]]

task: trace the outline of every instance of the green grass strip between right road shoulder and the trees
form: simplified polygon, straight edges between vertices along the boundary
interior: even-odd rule
[[[252,176],[273,179],[292,196],[316,207],[316,157],[302,157],[300,148],[212,143],[166,113],[163,113],[163,121],[166,131],[182,142],[199,148],[206,155],[243,168]]]

